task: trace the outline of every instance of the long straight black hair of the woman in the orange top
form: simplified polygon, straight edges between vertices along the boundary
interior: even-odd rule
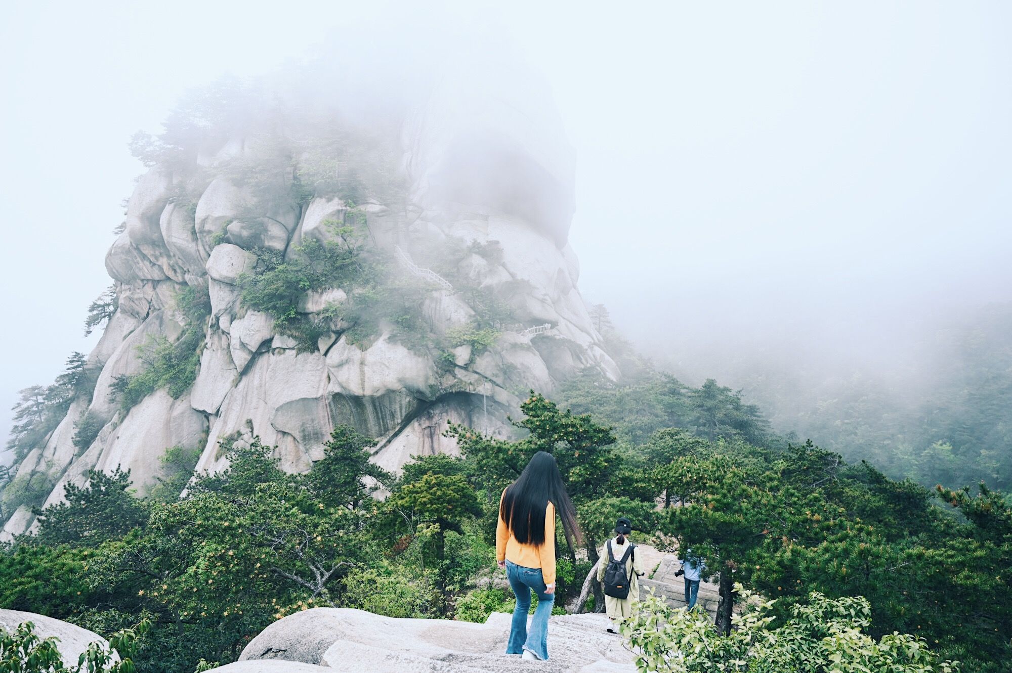
[[[499,513],[517,542],[528,545],[544,543],[544,511],[549,501],[563,521],[566,542],[582,538],[576,520],[576,508],[569,499],[559,466],[552,454],[539,451],[527,463],[520,476],[506,487]]]

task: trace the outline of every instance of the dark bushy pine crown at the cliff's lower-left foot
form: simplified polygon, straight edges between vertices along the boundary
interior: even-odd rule
[[[87,485],[67,482],[64,501],[36,509],[43,545],[97,546],[143,525],[147,512],[130,492],[130,470],[89,470]]]

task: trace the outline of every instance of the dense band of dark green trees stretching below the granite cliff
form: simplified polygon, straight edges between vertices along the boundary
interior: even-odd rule
[[[399,479],[369,461],[374,442],[348,425],[335,427],[304,474],[283,472],[275,448],[237,436],[222,443],[226,469],[188,481],[197,452],[175,447],[144,501],[133,498],[125,475],[92,475],[89,486],[68,488],[66,503],[40,512],[36,537],[0,550],[0,606],[60,614],[102,633],[150,617],[138,669],[173,673],[190,673],[201,659],[234,661],[271,621],[316,605],[481,620],[513,607],[507,591],[491,588],[501,489],[544,450],[568,482],[586,548],[560,554],[556,611],[579,591],[622,515],[638,543],[656,534],[655,544],[704,557],[724,599],[720,630],[701,613],[658,617],[663,639],[641,634],[654,639],[655,654],[672,638],[691,637],[725,670],[741,668],[739,660],[754,671],[792,670],[798,653],[843,651],[847,665],[851,657],[918,670],[909,668],[916,657],[934,660],[903,635],[916,634],[965,670],[997,673],[993,662],[1012,656],[1005,579],[1012,515],[1001,493],[940,489],[944,511],[923,487],[848,465],[812,443],[749,444],[750,432],[769,437],[761,423],[736,428],[728,420],[739,407],[726,390],[706,393],[716,400],[709,411],[691,389],[663,379],[642,383],[643,404],[608,401],[626,388],[580,390],[582,403],[640,408],[638,417],[651,423],[676,417],[688,426],[612,430],[597,415],[532,394],[514,421],[522,439],[450,425],[462,458],[415,457]],[[699,417],[722,419],[714,441]],[[370,497],[377,487],[389,497]],[[557,544],[565,545],[561,535]],[[747,596],[735,582],[776,599],[744,627],[752,643],[768,646],[769,661],[742,653],[743,630],[728,629],[731,606]],[[745,613],[758,604],[745,601]],[[663,626],[669,619],[675,632]],[[824,621],[842,626],[827,631]],[[795,669],[821,670],[815,666]]]

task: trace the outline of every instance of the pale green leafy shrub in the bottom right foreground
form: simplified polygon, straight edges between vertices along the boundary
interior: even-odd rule
[[[741,590],[741,585],[738,586]],[[743,592],[749,598],[747,592]],[[916,636],[892,634],[876,641],[864,633],[868,601],[831,599],[812,592],[774,627],[774,601],[746,600],[736,629],[721,634],[698,610],[674,609],[657,597],[637,603],[620,633],[646,673],[748,671],[780,673],[957,673],[958,662],[941,661]]]

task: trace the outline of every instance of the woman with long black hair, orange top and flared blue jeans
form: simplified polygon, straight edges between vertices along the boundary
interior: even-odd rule
[[[566,541],[580,540],[576,508],[566,493],[552,454],[539,451],[499,501],[496,559],[516,594],[506,654],[524,659],[549,658],[549,617],[556,600],[556,513],[563,521]],[[537,608],[527,629],[530,592]]]

